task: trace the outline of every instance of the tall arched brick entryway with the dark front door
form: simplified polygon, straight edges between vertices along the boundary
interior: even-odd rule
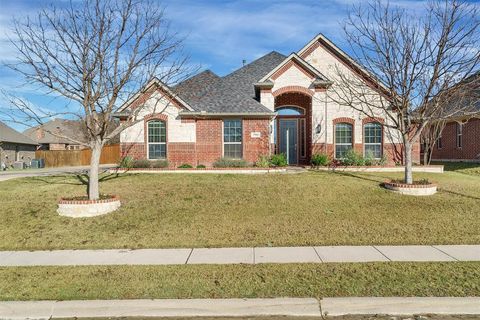
[[[312,98],[301,92],[275,97],[275,152],[284,153],[290,165],[308,164],[312,144]]]

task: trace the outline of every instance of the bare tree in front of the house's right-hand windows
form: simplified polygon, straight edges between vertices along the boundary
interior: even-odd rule
[[[403,141],[405,182],[413,183],[412,148],[433,122],[473,112],[464,81],[479,69],[478,6],[461,0],[426,4],[421,15],[381,0],[354,6],[344,26],[354,59],[369,75],[337,68],[332,99],[385,126]],[[446,99],[448,98],[448,99]]]

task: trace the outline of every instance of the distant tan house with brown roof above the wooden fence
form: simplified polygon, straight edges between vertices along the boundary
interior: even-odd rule
[[[54,119],[43,125],[27,129],[23,133],[36,141],[41,150],[81,150],[85,148],[64,137],[87,141],[81,123],[75,120]]]

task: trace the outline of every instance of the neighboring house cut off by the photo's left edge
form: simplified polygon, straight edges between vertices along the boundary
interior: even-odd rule
[[[35,159],[36,149],[35,141],[0,122],[0,169],[13,165],[15,161],[30,164]]]

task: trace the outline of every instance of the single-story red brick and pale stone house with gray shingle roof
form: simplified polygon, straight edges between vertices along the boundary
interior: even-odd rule
[[[209,166],[284,153],[296,165],[354,149],[400,162],[401,138],[386,115],[368,118],[330,99],[336,68],[368,76],[320,34],[298,53],[271,52],[224,77],[207,70],[173,87],[153,79],[117,114],[122,121],[144,106],[135,115],[143,121],[121,134],[122,156]],[[413,154],[418,162],[419,146]]]

